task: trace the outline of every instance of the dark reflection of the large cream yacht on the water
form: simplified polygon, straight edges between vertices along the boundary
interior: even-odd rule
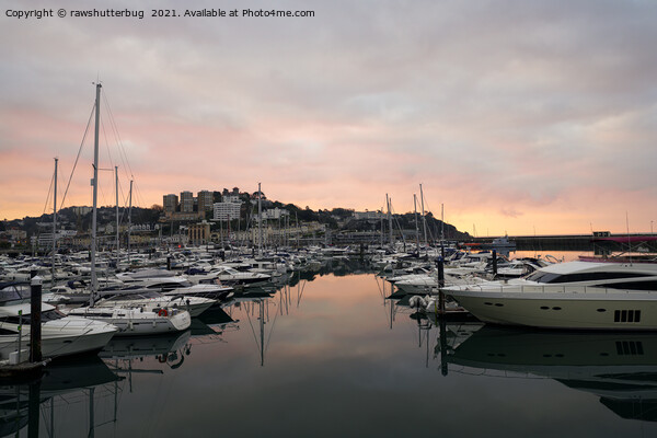
[[[550,378],[595,394],[623,418],[657,420],[654,333],[543,332],[484,325],[453,348],[437,349],[443,351],[450,371],[477,369],[486,376]]]

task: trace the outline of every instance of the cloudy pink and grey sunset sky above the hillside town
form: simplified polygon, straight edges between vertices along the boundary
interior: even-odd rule
[[[422,184],[426,210],[479,237],[657,229],[656,2],[0,4],[0,219],[51,211],[55,158],[58,206],[92,204],[100,80],[100,205],[118,166],[122,205],[130,180],[141,207],[262,183],[402,214]],[[71,16],[94,4],[143,19]],[[184,16],[210,8],[238,16]],[[272,8],[314,16],[242,12]]]

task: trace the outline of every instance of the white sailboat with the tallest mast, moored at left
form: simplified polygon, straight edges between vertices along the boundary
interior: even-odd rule
[[[99,298],[99,283],[95,269],[96,258],[96,215],[97,215],[97,177],[99,177],[99,126],[101,88],[96,83],[95,97],[95,134],[94,134],[94,161],[93,161],[93,207],[91,221],[91,291],[90,306],[69,310],[69,315],[103,321],[118,327],[117,336],[154,335],[175,333],[187,330],[192,325],[189,312],[180,308],[148,308],[135,307],[94,307]]]

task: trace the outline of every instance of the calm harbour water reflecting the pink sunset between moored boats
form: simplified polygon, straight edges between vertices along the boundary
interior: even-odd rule
[[[657,435],[657,335],[448,324],[441,338],[391,307],[389,284],[336,267],[181,336],[53,365],[38,397],[2,387],[1,436]]]

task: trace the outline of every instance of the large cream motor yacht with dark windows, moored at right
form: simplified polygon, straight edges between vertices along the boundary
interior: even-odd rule
[[[657,330],[657,264],[568,262],[530,276],[442,289],[484,322]]]

